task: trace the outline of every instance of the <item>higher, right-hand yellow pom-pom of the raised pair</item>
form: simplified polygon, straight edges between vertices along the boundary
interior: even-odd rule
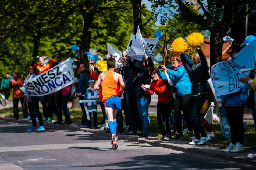
[[[203,34],[193,32],[187,36],[187,44],[192,48],[201,48],[204,45]]]

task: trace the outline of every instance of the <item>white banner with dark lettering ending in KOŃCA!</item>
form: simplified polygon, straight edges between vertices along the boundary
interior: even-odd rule
[[[71,58],[66,59],[50,70],[38,75],[35,78],[25,79],[26,90],[31,96],[44,96],[75,83]]]

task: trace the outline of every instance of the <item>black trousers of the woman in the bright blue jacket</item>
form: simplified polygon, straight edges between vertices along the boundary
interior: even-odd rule
[[[173,101],[173,112],[176,123],[177,132],[182,134],[182,115],[183,112],[184,119],[187,123],[187,128],[192,132],[191,119],[190,119],[190,105],[191,104],[191,94],[185,94],[177,96]]]

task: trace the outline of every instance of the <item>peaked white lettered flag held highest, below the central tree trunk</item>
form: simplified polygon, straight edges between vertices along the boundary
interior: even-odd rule
[[[131,35],[127,46],[127,54],[137,60],[142,60],[145,55],[151,57],[153,61],[162,61],[162,56],[158,53],[157,57],[153,52],[156,49],[158,38],[143,38],[138,27],[136,35]]]

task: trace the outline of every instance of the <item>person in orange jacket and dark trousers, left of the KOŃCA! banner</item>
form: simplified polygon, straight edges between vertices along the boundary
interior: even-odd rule
[[[20,90],[20,86],[24,84],[23,78],[20,77],[18,72],[12,73],[12,80],[10,81],[9,88],[13,88],[13,117],[15,120],[19,119],[18,104],[19,100],[22,106],[23,117],[28,117],[27,102],[25,101],[25,94]]]

